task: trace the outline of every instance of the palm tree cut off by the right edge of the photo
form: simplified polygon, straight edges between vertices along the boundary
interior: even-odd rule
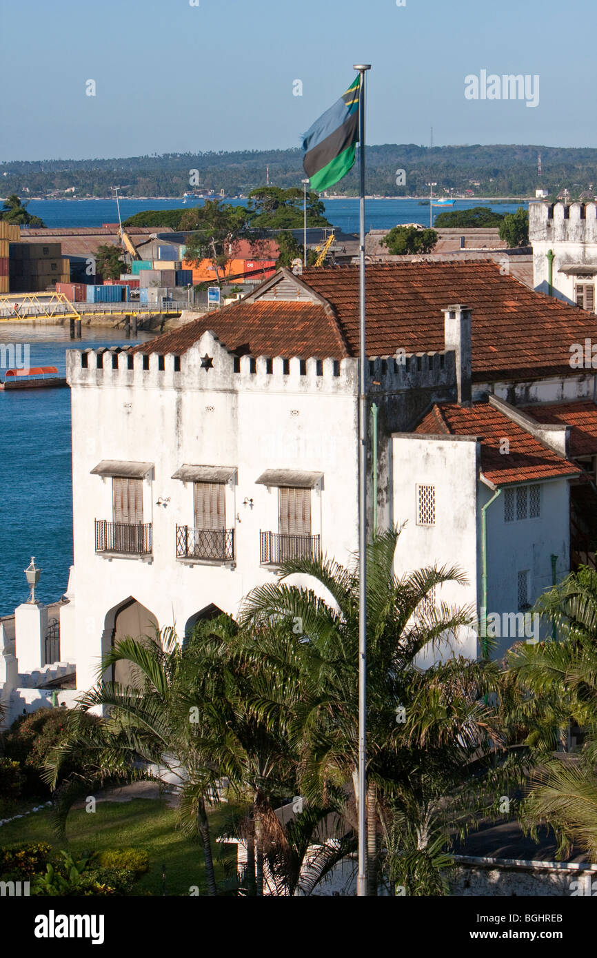
[[[559,640],[517,644],[508,659],[510,722],[525,733],[537,769],[523,807],[536,833],[541,821],[559,839],[597,858],[597,573],[581,567],[536,605]],[[554,756],[573,719],[584,729],[579,753]]]

